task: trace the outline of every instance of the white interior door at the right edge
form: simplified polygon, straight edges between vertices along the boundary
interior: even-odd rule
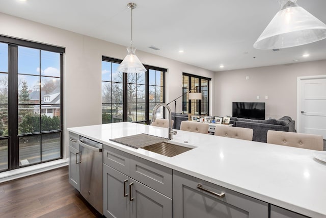
[[[326,75],[298,77],[297,131],[326,139]]]

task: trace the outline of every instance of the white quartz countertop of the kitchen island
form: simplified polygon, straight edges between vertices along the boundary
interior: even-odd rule
[[[133,149],[111,138],[168,129],[134,123],[68,128],[69,131],[182,173],[311,217],[326,217],[326,163],[313,150],[177,130],[171,142],[196,147],[174,157]]]

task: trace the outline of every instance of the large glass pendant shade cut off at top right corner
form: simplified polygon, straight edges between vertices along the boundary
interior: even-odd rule
[[[279,0],[281,10],[254,43],[256,49],[284,49],[326,38],[326,25],[296,4]]]

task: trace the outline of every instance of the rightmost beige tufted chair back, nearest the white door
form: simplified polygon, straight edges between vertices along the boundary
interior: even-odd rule
[[[267,143],[323,151],[321,135],[268,130]]]

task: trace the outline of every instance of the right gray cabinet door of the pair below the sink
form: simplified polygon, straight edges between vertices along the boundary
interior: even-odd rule
[[[173,217],[172,199],[154,189],[130,179],[130,217],[131,218],[169,218]]]

